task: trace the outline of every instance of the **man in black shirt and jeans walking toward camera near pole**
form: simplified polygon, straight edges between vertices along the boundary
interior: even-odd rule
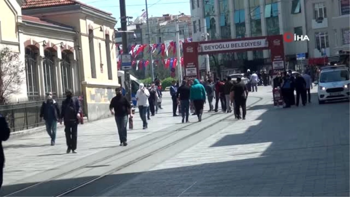
[[[121,94],[121,88],[116,88],[116,96],[111,100],[110,111],[114,115],[114,119],[117,123],[117,129],[119,134],[119,141],[121,146],[126,146],[127,140],[127,124],[128,124],[128,115],[132,118],[131,113],[131,104],[126,100],[125,96]]]

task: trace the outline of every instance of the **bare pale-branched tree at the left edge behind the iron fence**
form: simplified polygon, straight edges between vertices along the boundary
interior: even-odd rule
[[[25,67],[19,55],[7,47],[0,50],[0,103],[20,93],[20,86],[25,80]]]

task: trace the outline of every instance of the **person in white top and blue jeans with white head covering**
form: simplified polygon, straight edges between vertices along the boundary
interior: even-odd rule
[[[149,106],[148,104],[149,91],[147,90],[147,88],[143,83],[140,83],[139,90],[137,90],[135,97],[136,97],[137,105],[139,106],[139,114],[142,120],[143,129],[147,129],[148,123],[146,119],[146,114],[147,114],[147,108]]]

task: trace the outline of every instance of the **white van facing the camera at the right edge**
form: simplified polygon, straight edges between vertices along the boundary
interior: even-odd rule
[[[345,66],[322,67],[318,82],[318,103],[350,99],[349,69]]]

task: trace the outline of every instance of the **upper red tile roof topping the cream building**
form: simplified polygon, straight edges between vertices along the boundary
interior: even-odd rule
[[[112,13],[102,11],[98,8],[86,5],[86,4],[79,2],[77,0],[27,0],[27,3],[22,5],[22,9],[56,7],[56,6],[64,6],[64,5],[75,5],[75,4],[89,7],[91,9],[94,9],[98,12],[102,12],[102,13],[107,14],[107,15],[112,15]]]

